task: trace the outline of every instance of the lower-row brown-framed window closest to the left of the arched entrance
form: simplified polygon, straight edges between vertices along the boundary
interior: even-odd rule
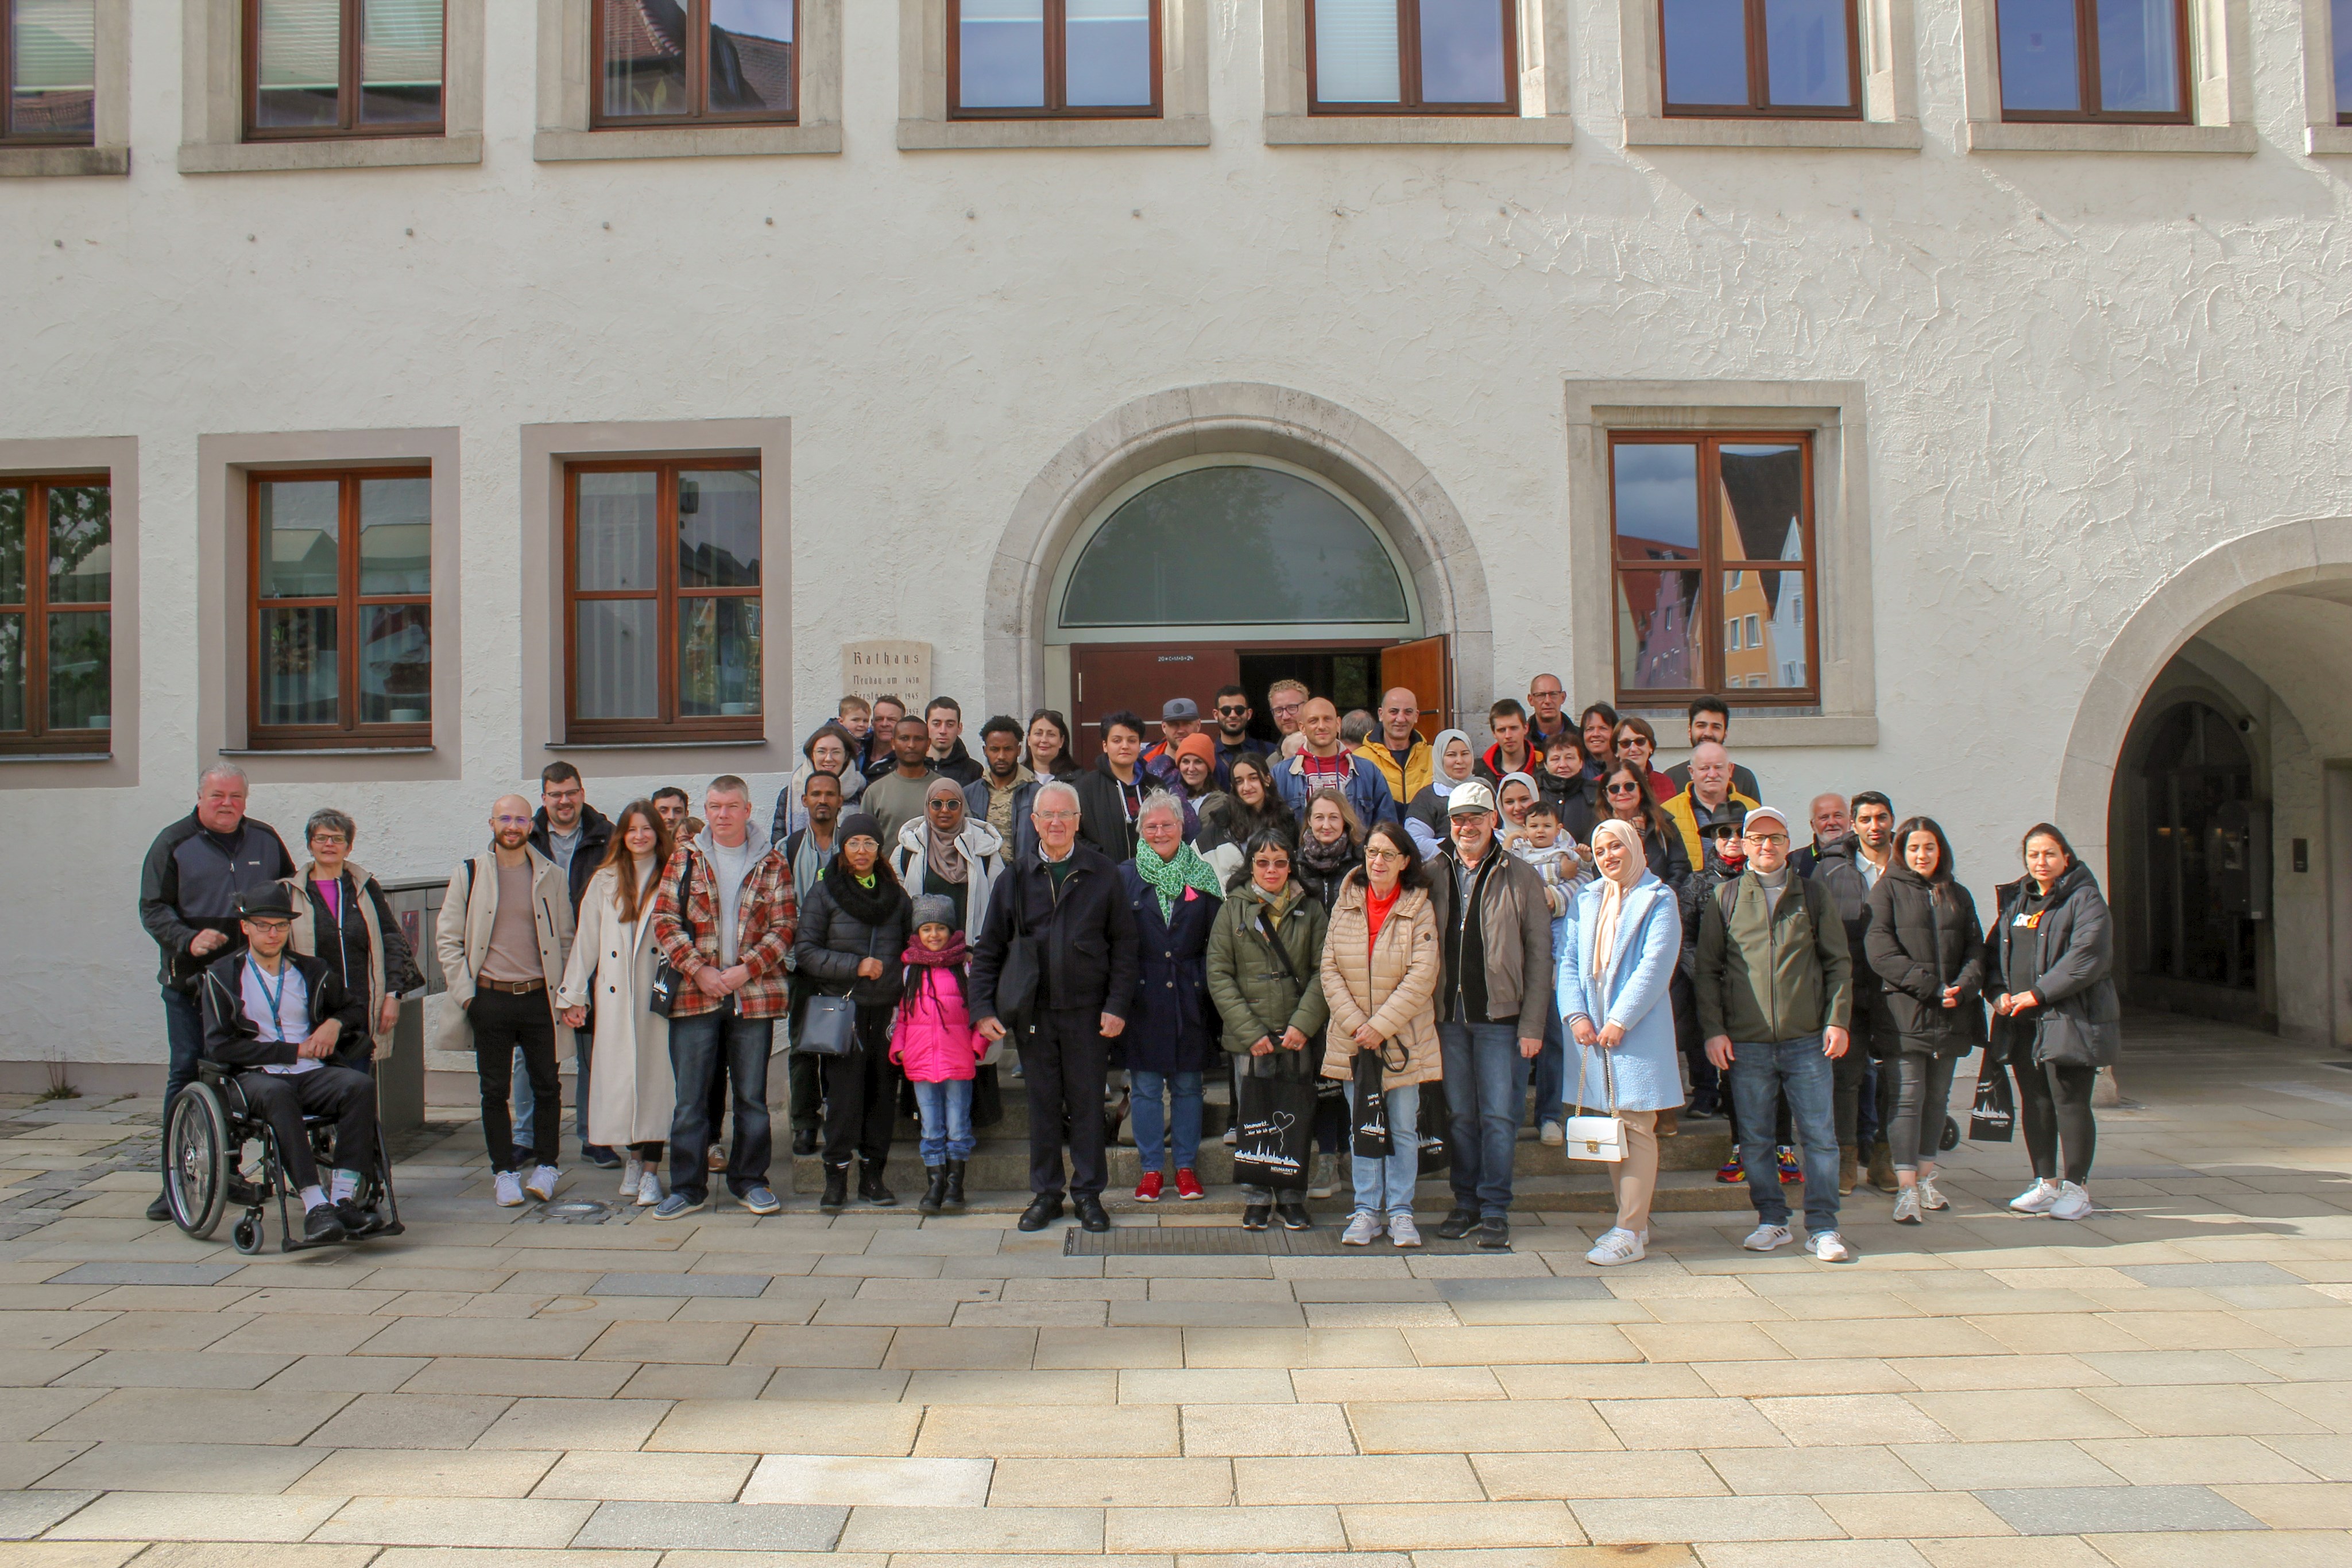
[[[569,741],[757,741],[760,463],[564,470]]]

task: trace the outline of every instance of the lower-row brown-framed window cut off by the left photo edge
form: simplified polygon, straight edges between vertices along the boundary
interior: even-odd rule
[[[0,480],[0,755],[113,743],[108,475]]]

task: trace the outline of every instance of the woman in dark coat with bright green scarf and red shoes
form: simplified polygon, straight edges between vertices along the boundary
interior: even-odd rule
[[[1223,907],[1223,884],[1183,842],[1183,804],[1174,795],[1143,797],[1136,835],[1136,858],[1120,867],[1120,882],[1136,914],[1143,969],[1117,1048],[1127,1058],[1143,1164],[1136,1201],[1157,1204],[1167,1185],[1162,1159],[1176,1166],[1176,1197],[1204,1197],[1192,1166],[1200,1161],[1200,1079],[1216,1056],[1209,931]]]

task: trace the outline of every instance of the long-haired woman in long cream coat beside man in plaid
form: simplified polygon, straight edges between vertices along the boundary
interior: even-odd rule
[[[661,945],[654,943],[654,879],[670,863],[670,830],[654,802],[633,799],[612,827],[604,863],[581,891],[579,931],[555,1004],[564,1025],[588,1023],[588,1143],[628,1145],[621,1197],[640,1208],[661,1201],[661,1154],[677,1110],[670,1074],[670,1020],[647,1009]]]

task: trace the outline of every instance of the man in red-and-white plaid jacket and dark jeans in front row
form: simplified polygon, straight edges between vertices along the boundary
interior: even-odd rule
[[[793,867],[753,820],[750,785],[734,773],[710,780],[703,820],[699,835],[670,851],[654,893],[654,940],[680,978],[670,1004],[675,1185],[654,1208],[656,1220],[710,1201],[710,1077],[720,1060],[734,1084],[736,1119],[727,1190],[753,1213],[783,1208],[767,1185],[767,1053],[776,1020],[790,1011],[783,959],[800,914]]]

